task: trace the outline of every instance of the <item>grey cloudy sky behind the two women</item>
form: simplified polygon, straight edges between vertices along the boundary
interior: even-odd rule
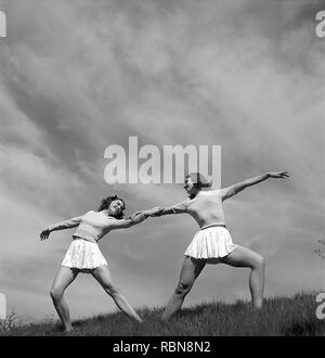
[[[324,8],[324,5],[323,5]],[[107,184],[105,149],[222,146],[222,184],[288,170],[225,202],[235,243],[266,259],[265,295],[325,287],[322,1],[0,0],[0,292],[26,320],[49,296],[73,229],[50,223],[118,193],[128,213],[185,199],[181,184]],[[112,232],[101,250],[135,307],[164,306],[197,230],[188,216]],[[208,266],[186,305],[249,299],[248,271]],[[88,276],[73,318],[115,310]],[[56,317],[56,316],[54,316]]]

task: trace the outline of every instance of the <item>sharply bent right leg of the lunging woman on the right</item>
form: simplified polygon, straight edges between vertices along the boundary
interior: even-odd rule
[[[265,273],[263,257],[249,248],[238,246],[220,261],[233,267],[249,267],[251,269],[249,276],[251,301],[256,308],[261,308],[263,304]]]

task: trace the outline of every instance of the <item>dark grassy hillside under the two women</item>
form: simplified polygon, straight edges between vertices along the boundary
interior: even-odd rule
[[[325,319],[315,316],[316,294],[272,297],[256,311],[249,303],[204,303],[183,309],[169,322],[160,320],[162,308],[138,312],[143,324],[130,322],[121,312],[74,321],[69,335],[84,336],[220,336],[220,335],[325,335]],[[1,333],[0,333],[1,334]],[[62,335],[57,321],[13,327],[2,335]]]

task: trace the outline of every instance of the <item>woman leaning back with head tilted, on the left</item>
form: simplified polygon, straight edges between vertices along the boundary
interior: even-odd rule
[[[63,323],[64,332],[73,330],[64,292],[79,272],[91,273],[120,310],[130,319],[142,322],[127,298],[113,283],[107,261],[102,255],[98,242],[112,230],[130,228],[142,222],[148,215],[154,215],[158,208],[138,212],[123,219],[125,208],[123,200],[117,195],[108,196],[102,200],[98,212],[90,210],[84,215],[49,226],[40,233],[40,239],[47,240],[52,231],[78,227],[51,289],[51,297]]]

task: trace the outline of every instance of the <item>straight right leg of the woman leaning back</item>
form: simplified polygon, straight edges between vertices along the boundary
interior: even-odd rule
[[[128,303],[127,298],[115,286],[109,269],[106,265],[100,266],[92,271],[92,276],[100,282],[105,292],[114,299],[116,306],[123,311],[130,319],[142,322],[135,310]]]

